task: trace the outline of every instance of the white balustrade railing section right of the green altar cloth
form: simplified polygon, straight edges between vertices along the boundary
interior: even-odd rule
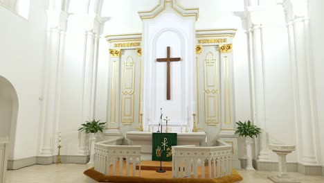
[[[172,146],[172,177],[198,177],[201,168],[201,178],[208,171],[209,178],[231,175],[232,146],[224,141],[217,141],[219,146]],[[205,170],[207,166],[208,170]]]

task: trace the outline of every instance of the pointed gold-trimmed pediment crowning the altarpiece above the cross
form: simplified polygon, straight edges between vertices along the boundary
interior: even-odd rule
[[[154,19],[165,10],[173,10],[182,17],[195,17],[196,21],[199,17],[199,8],[183,8],[177,3],[177,0],[160,0],[159,5],[157,5],[155,8],[150,11],[138,12],[138,15],[142,20]]]

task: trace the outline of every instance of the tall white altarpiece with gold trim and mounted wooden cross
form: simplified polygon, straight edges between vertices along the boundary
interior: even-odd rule
[[[169,132],[178,132],[179,145],[199,146],[207,136],[207,146],[215,146],[221,139],[233,146],[233,161],[240,166],[233,78],[236,29],[196,30],[199,9],[184,9],[176,0],[161,0],[138,15],[143,33],[106,36],[105,135],[127,137],[143,146],[143,153],[151,153],[151,132],[159,128],[162,108],[163,119],[170,119]]]

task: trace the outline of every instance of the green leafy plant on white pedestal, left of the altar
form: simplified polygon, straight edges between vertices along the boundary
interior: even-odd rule
[[[89,134],[90,160],[88,164],[93,164],[96,133],[99,131],[102,132],[105,129],[105,123],[106,122],[100,122],[100,120],[96,121],[95,119],[93,119],[92,121],[86,121],[86,123],[82,123],[82,127],[78,129],[80,132],[84,131]]]

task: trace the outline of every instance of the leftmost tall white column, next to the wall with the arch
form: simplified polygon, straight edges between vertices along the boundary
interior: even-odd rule
[[[60,85],[63,69],[63,53],[67,15],[61,10],[48,10],[46,30],[46,53],[44,66],[44,88],[42,95],[42,131],[40,155],[51,156],[55,148],[54,137],[59,119]],[[42,99],[42,98],[41,98]]]

